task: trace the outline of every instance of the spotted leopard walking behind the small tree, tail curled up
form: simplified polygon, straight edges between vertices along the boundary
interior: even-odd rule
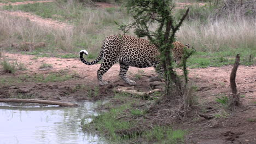
[[[179,41],[173,43],[172,56],[177,64],[181,63],[183,48],[189,44],[182,44]],[[101,62],[100,68],[97,70],[97,79],[100,85],[107,85],[107,81],[102,80],[102,76],[117,62],[120,65],[119,76],[129,85],[136,85],[136,82],[127,77],[129,67],[147,68],[154,67],[159,69],[158,47],[150,43],[146,39],[136,38],[131,35],[110,35],[102,43],[100,54],[92,61],[88,62],[83,55],[89,55],[88,51],[80,51],[80,61],[86,65],[93,65]],[[159,72],[160,71],[160,72]],[[163,69],[157,71],[162,75]]]

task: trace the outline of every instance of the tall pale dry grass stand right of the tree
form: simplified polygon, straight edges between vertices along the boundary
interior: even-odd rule
[[[231,49],[255,49],[256,20],[226,18],[208,21],[187,22],[177,33],[177,39],[193,45],[199,51],[220,51]]]

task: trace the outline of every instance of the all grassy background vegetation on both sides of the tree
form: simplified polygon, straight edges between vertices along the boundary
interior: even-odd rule
[[[217,5],[218,7],[214,3],[206,3],[205,6],[189,6],[189,18],[184,21],[176,37],[178,41],[184,44],[189,43],[197,51],[196,55],[189,58],[189,67],[220,67],[230,64],[235,53],[241,54],[241,64],[255,63],[255,17],[225,13],[223,17],[219,16],[216,19],[214,14],[219,8],[222,8],[220,4]],[[54,29],[38,26],[26,19],[2,14],[0,17],[1,43],[39,43],[44,41],[46,47],[24,52],[43,57],[73,58],[76,57],[75,54],[69,55],[68,53],[77,53],[81,49],[86,49],[89,51],[87,58],[94,59],[100,51],[104,38],[109,34],[121,33],[114,22],[130,21],[130,17],[127,16],[123,8],[88,8],[75,1],[5,6],[4,9],[30,11],[40,16],[49,15],[52,19],[74,25],[73,29]],[[184,14],[183,9],[176,11],[176,17],[181,17],[181,14]],[[248,11],[250,10],[248,9]],[[48,14],[44,14],[46,12]],[[130,34],[134,35],[132,32]],[[15,50],[9,46],[3,48],[9,51]],[[64,52],[63,56],[60,55],[60,51]],[[251,61],[250,55],[253,57]],[[226,61],[227,59],[228,61]]]

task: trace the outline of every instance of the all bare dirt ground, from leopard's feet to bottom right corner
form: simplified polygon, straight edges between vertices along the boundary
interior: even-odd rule
[[[103,76],[109,81],[107,86],[98,86],[97,69],[100,64],[85,65],[79,58],[35,57],[13,53],[2,53],[2,57],[9,61],[17,60],[23,63],[27,70],[18,71],[15,74],[3,73],[0,70],[0,79],[20,79],[22,75],[48,75],[60,73],[61,70],[68,74],[76,73],[74,79],[63,82],[32,82],[21,79],[22,82],[0,86],[0,98],[13,97],[18,93],[33,95],[33,98],[44,100],[59,100],[75,103],[79,100],[98,100],[110,98],[112,89],[117,86],[129,87],[119,77],[119,65],[115,64]],[[53,68],[39,69],[42,63],[51,64]],[[223,67],[189,69],[190,81],[196,87],[195,94],[202,107],[206,110],[218,109],[215,99],[220,95],[228,95],[229,75],[232,65]],[[178,73],[180,70],[177,70]],[[152,82],[149,77],[156,76],[153,68],[138,69],[131,67],[128,76],[137,82],[135,89],[149,91]],[[177,124],[178,128],[193,131],[186,137],[187,143],[256,143],[256,66],[240,65],[237,70],[237,88],[242,95],[242,103],[245,107],[228,118],[215,118],[207,120],[197,117],[193,121]],[[85,88],[77,88],[77,86]],[[89,89],[99,87],[97,97],[88,97]],[[77,88],[77,89],[75,89]],[[75,91],[74,91],[75,89]],[[94,91],[94,90],[92,90]],[[252,92],[249,92],[252,91]]]

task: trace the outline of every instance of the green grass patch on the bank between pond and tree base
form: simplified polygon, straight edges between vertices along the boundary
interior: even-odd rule
[[[110,102],[104,105],[108,112],[101,113],[90,123],[82,118],[81,124],[83,130],[98,131],[98,133],[107,137],[110,143],[127,143],[143,139],[146,143],[183,143],[185,131],[173,130],[172,127],[153,127],[142,131],[141,134],[120,135],[118,131],[130,131],[139,127],[137,119],[129,117],[141,117],[146,111],[134,108],[139,103],[136,98],[130,97],[129,94],[117,93],[112,98],[118,101],[116,104]],[[117,105],[119,104],[119,105]]]

